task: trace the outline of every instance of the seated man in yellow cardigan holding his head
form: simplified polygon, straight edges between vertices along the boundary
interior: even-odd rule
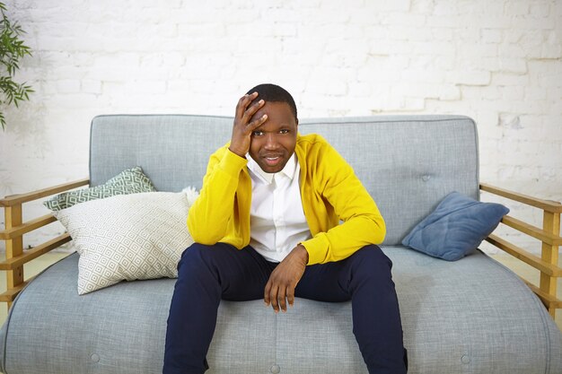
[[[263,298],[277,313],[295,297],[351,300],[369,372],[406,372],[391,260],[375,245],[381,213],[338,152],[297,128],[277,85],[238,101],[231,142],[211,156],[189,210],[196,243],[178,265],[164,374],[206,370],[221,299]]]

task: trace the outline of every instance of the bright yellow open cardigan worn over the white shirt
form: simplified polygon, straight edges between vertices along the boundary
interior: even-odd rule
[[[251,179],[248,161],[220,148],[210,157],[203,187],[189,209],[188,228],[201,244],[250,244]],[[303,241],[309,265],[338,261],[380,244],[386,227],[355,172],[321,135],[297,135],[303,212],[312,239]],[[339,222],[343,222],[339,224]]]

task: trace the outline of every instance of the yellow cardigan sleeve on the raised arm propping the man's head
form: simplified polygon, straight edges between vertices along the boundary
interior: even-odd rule
[[[226,146],[211,155],[203,187],[188,213],[188,229],[196,242],[213,245],[229,234],[240,173],[247,163]]]

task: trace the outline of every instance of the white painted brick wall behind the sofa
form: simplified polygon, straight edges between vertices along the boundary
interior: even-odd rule
[[[0,196],[87,176],[95,115],[231,115],[243,91],[273,82],[294,93],[301,117],[474,117],[481,180],[562,200],[562,2],[6,4],[28,32],[34,54],[19,78],[36,92],[6,113]],[[31,204],[24,215],[39,213]],[[513,213],[540,220],[522,206]],[[61,230],[53,226],[26,245]]]

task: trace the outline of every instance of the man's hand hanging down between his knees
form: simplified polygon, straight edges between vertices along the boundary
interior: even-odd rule
[[[279,309],[287,311],[287,303],[294,304],[294,289],[304,274],[308,263],[308,252],[299,244],[285,257],[269,276],[263,300],[266,306],[271,304],[276,313]]]

